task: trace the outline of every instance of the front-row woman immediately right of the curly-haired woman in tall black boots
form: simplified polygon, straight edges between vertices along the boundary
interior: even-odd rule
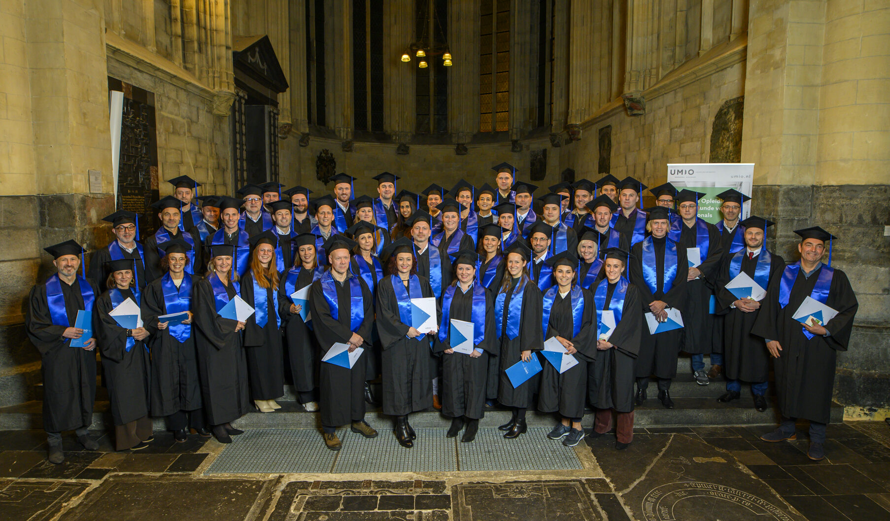
[[[442,354],[442,414],[451,418],[445,436],[453,438],[466,426],[460,439],[465,443],[476,439],[479,420],[484,416],[489,361],[497,360],[500,347],[494,292],[476,281],[478,257],[472,250],[457,253],[455,281],[442,295],[439,334],[433,338],[433,350]],[[452,336],[453,320],[473,324],[472,335],[465,338],[469,353],[455,351],[461,342]]]

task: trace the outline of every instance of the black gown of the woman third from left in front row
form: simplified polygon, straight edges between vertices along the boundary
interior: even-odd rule
[[[185,273],[185,276],[191,277],[193,295],[198,276],[189,273]],[[194,313],[194,300],[190,311]],[[169,416],[177,411],[196,411],[203,403],[194,327],[191,328],[190,337],[180,344],[170,334],[169,328],[158,330],[158,316],[162,314],[167,314],[167,310],[161,279],[157,279],[151,281],[142,292],[142,322],[151,333],[151,415]]]

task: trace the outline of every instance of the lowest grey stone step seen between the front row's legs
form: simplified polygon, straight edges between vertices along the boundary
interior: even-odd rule
[[[635,410],[636,427],[690,427],[708,425],[773,425],[779,422],[779,411],[771,400],[771,409],[760,412],[754,408],[749,396],[743,396],[732,403],[717,403],[714,398],[681,398],[674,399],[674,409],[665,409],[659,400],[650,397],[642,406]],[[281,409],[275,412],[248,412],[233,423],[241,428],[318,428],[320,427],[317,412],[306,412],[296,402],[279,401]],[[40,429],[41,403],[32,401],[10,407],[0,408],[0,430]],[[379,407],[368,408],[368,423],[378,429],[387,429],[392,417],[387,416]],[[510,419],[510,411],[493,408],[485,411],[481,427],[497,427]],[[831,423],[839,423],[844,419],[844,407],[832,403]],[[411,425],[414,427],[448,427],[450,419],[438,411],[421,411],[411,414]],[[530,427],[546,427],[554,423],[553,414],[529,412],[527,421]],[[586,414],[583,424],[592,425],[593,415]],[[108,402],[97,402],[93,412],[93,428],[109,429],[111,417]],[[156,430],[165,430],[165,420],[154,419]]]

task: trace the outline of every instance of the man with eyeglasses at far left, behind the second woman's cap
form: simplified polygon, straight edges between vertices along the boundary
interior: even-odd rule
[[[139,220],[133,212],[125,210],[117,210],[110,216],[102,217],[103,221],[111,223],[111,232],[114,233],[115,240],[109,242],[108,246],[99,248],[90,256],[90,269],[87,271],[87,277],[93,279],[99,285],[102,291],[105,291],[105,282],[109,278],[107,264],[113,260],[121,260],[125,258],[135,259],[136,286],[142,291],[145,288],[145,251],[142,244],[136,242],[136,222]]]

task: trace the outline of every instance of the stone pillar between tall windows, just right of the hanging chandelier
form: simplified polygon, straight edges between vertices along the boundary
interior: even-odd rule
[[[448,41],[454,65],[448,75],[448,118],[456,143],[470,142],[479,131],[479,17],[480,0],[451,4]]]

